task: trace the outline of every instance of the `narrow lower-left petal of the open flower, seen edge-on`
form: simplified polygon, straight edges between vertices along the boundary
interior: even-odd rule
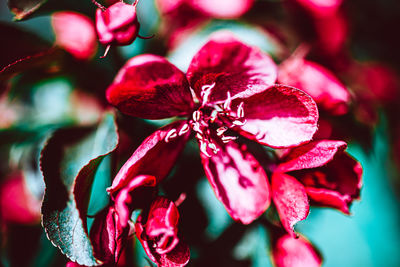
[[[152,175],[156,177],[157,183],[162,180],[173,167],[190,132],[169,138],[169,142],[165,139],[174,129],[179,133],[185,123],[185,121],[171,123],[147,137],[121,167],[107,191],[114,194],[138,175]]]

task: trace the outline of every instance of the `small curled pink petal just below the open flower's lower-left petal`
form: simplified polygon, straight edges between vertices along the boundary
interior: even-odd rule
[[[156,178],[150,175],[139,175],[133,178],[127,186],[123,187],[115,198],[115,210],[119,215],[121,226],[126,227],[131,213],[135,208],[140,208],[142,198],[147,199],[149,188],[156,186]],[[137,207],[139,206],[139,207]]]

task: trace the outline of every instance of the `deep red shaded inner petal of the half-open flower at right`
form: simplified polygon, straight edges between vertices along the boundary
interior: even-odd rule
[[[341,153],[326,166],[299,171],[313,205],[336,208],[349,214],[349,206],[360,196],[362,167],[347,153]]]

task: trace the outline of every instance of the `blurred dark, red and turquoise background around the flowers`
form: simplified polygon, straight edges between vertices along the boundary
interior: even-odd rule
[[[103,1],[105,5],[111,2]],[[210,33],[229,29],[247,43],[270,53],[277,63],[305,44],[309,47],[307,58],[332,71],[351,92],[352,103],[346,114],[332,115],[322,110],[321,118],[336,127],[330,136],[346,140],[348,152],[363,166],[361,199],[353,203],[350,216],[312,207],[308,218],[298,223],[296,230],[319,249],[323,266],[400,266],[400,36],[396,28],[400,25],[400,4],[396,0],[343,0],[339,1],[335,17],[328,20],[313,17],[299,7],[300,2],[258,0],[240,18],[200,17],[201,22],[193,28],[189,22],[182,22],[187,26],[183,30],[181,22],[175,22],[176,28],[171,33],[165,26],[168,17],[157,9],[157,3],[141,0],[140,34],[155,34],[155,37],[112,47],[109,55],[100,60],[105,48],[97,39],[95,48],[82,56],[84,59],[76,51],[68,51],[62,37],[57,36],[57,31],[62,30],[57,29],[54,19],[55,12],[69,10],[84,14],[93,23],[96,9],[91,1],[48,0],[31,17],[16,21],[7,1],[2,0],[0,70],[43,49],[58,47],[61,52],[52,53],[44,61],[12,69],[22,75],[14,77],[3,72],[0,76],[1,265],[64,266],[66,263],[40,226],[44,184],[38,159],[46,136],[57,127],[87,125],[98,120],[107,108],[105,89],[132,56],[142,53],[167,56],[186,70]],[[192,29],[190,33],[187,28]],[[130,136],[127,144],[131,148],[126,149],[126,154],[133,151],[139,140],[166,123],[123,115],[119,115],[119,121],[124,122],[121,127]],[[182,209],[197,207],[198,212],[187,211],[189,214],[185,216],[194,217],[182,222],[183,231],[188,240],[201,244],[200,237],[193,233],[198,230],[191,227],[198,220],[197,225],[206,236],[201,238],[222,240],[221,244],[225,244],[224,233],[235,230],[236,226],[208,186],[192,147],[195,144],[190,143],[181,163],[199,170],[194,171],[198,174],[193,175],[191,186],[194,186],[190,189],[195,190],[197,197]],[[178,174],[179,171],[176,170]],[[110,181],[110,177],[104,178],[95,185],[96,190],[104,192]],[[173,181],[168,180],[164,190],[174,192]],[[23,190],[29,192],[21,193]],[[104,194],[97,199],[89,210],[95,212],[107,203]],[[8,206],[14,209],[10,211]],[[227,259],[231,259],[227,264],[272,266],[266,231],[261,227],[239,230],[237,244],[227,252]],[[135,246],[135,250],[135,264],[149,265],[141,246]],[[191,254],[192,264],[197,266],[196,247]]]

